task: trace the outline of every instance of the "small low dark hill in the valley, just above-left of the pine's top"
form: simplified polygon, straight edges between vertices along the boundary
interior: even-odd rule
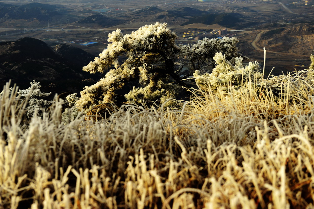
[[[77,24],[94,24],[94,26],[100,27],[111,27],[123,23],[123,20],[110,18],[102,14],[95,14],[77,21]]]

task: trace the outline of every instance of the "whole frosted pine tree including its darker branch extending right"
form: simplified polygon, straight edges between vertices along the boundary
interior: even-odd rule
[[[107,49],[83,67],[84,71],[106,72],[106,75],[81,91],[77,108],[88,111],[95,105],[115,102],[117,91],[130,82],[137,84],[133,84],[129,93],[124,95],[129,102],[147,103],[175,98],[185,86],[182,78],[191,77],[196,70],[202,71],[213,65],[216,52],[223,51],[230,62],[240,55],[235,37],[221,40],[205,38],[192,46],[177,46],[176,38],[165,23],[145,25],[125,35],[120,29],[113,31],[108,35],[111,43]]]

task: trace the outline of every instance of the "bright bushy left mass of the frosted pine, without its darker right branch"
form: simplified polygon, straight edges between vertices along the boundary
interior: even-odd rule
[[[84,71],[106,73],[95,85],[85,87],[77,107],[89,110],[101,103],[114,102],[114,96],[127,82],[138,80],[143,86],[130,89],[128,101],[168,99],[176,95],[178,85],[173,84],[169,72],[179,48],[175,45],[176,34],[166,24],[145,25],[131,34],[123,35],[120,29],[108,35],[107,49],[83,68]],[[125,61],[121,61],[122,57]]]

